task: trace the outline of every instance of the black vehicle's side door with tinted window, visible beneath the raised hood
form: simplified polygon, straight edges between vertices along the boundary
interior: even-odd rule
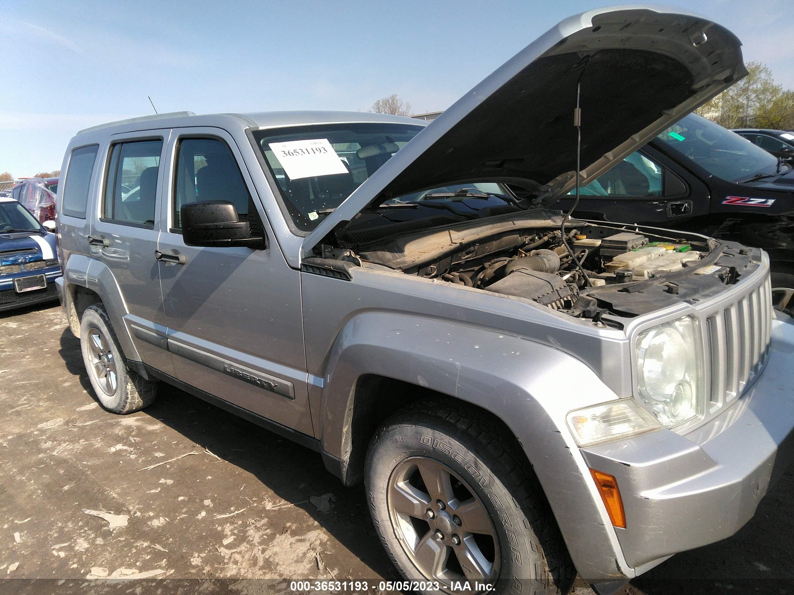
[[[561,209],[571,208],[574,194],[559,202]],[[575,216],[675,227],[708,213],[707,186],[646,146],[582,187]]]

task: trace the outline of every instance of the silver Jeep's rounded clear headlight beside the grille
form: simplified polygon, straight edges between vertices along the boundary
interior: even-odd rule
[[[700,333],[691,317],[649,328],[637,339],[638,389],[666,428],[700,415]]]

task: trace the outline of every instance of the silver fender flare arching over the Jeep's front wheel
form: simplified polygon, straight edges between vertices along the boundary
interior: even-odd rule
[[[510,428],[538,476],[576,570],[595,582],[634,576],[565,426],[572,409],[617,396],[578,359],[547,345],[455,321],[369,311],[351,318],[326,359],[322,447],[352,448],[357,380],[379,374],[487,409]]]

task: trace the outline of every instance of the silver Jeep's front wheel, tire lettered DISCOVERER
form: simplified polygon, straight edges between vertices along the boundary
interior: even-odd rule
[[[370,512],[405,578],[448,593],[475,583],[507,593],[516,581],[527,593],[569,589],[575,573],[557,524],[505,432],[454,401],[404,409],[376,432]]]

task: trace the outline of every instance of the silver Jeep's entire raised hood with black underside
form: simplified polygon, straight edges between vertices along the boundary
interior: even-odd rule
[[[453,182],[502,181],[548,207],[747,74],[741,43],[679,10],[619,6],[549,29],[441,113],[303,242],[301,257],[368,205]]]

